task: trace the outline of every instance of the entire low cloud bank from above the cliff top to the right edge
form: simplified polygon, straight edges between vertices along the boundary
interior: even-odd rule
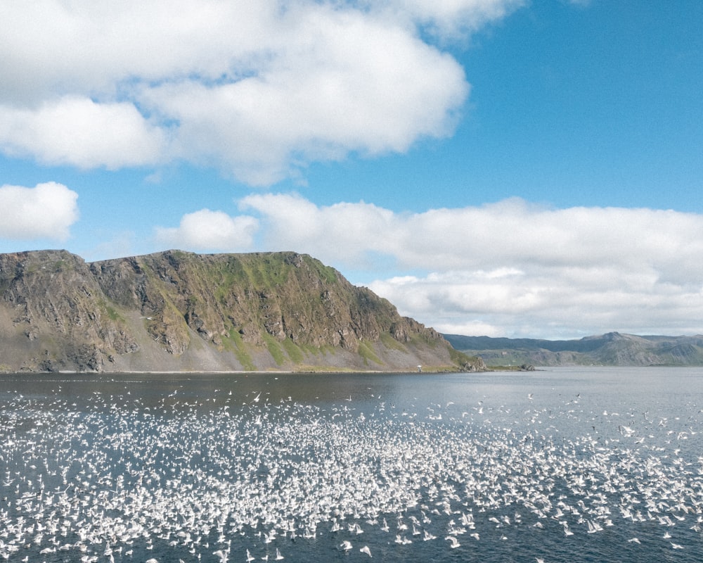
[[[241,215],[198,212],[191,227],[186,215],[164,232],[181,246],[309,253],[373,279],[370,288],[401,313],[445,332],[571,338],[703,329],[703,215],[556,209],[517,198],[424,213],[316,205],[298,194],[251,194],[238,205]],[[207,234],[215,217],[221,224]],[[231,231],[245,234],[225,246],[238,222],[244,227]]]

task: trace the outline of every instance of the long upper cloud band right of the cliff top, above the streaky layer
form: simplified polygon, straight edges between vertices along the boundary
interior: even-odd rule
[[[703,273],[695,260],[703,253],[703,219],[693,213],[553,209],[511,198],[401,214],[363,202],[318,206],[295,194],[254,194],[240,207],[270,223],[269,243],[285,239],[348,267],[360,267],[373,251],[394,256],[401,267],[436,271],[615,263],[626,270],[656,267],[660,277],[693,284]]]

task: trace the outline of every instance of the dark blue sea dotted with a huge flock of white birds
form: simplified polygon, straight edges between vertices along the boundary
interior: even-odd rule
[[[0,561],[700,562],[703,369],[1,374]]]

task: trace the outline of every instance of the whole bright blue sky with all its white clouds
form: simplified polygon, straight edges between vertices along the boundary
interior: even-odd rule
[[[699,0],[0,0],[0,252],[297,251],[446,334],[703,333]]]

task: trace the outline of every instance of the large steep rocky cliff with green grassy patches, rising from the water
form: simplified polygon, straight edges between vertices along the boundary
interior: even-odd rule
[[[476,370],[434,331],[292,252],[84,262],[0,255],[0,371]]]

